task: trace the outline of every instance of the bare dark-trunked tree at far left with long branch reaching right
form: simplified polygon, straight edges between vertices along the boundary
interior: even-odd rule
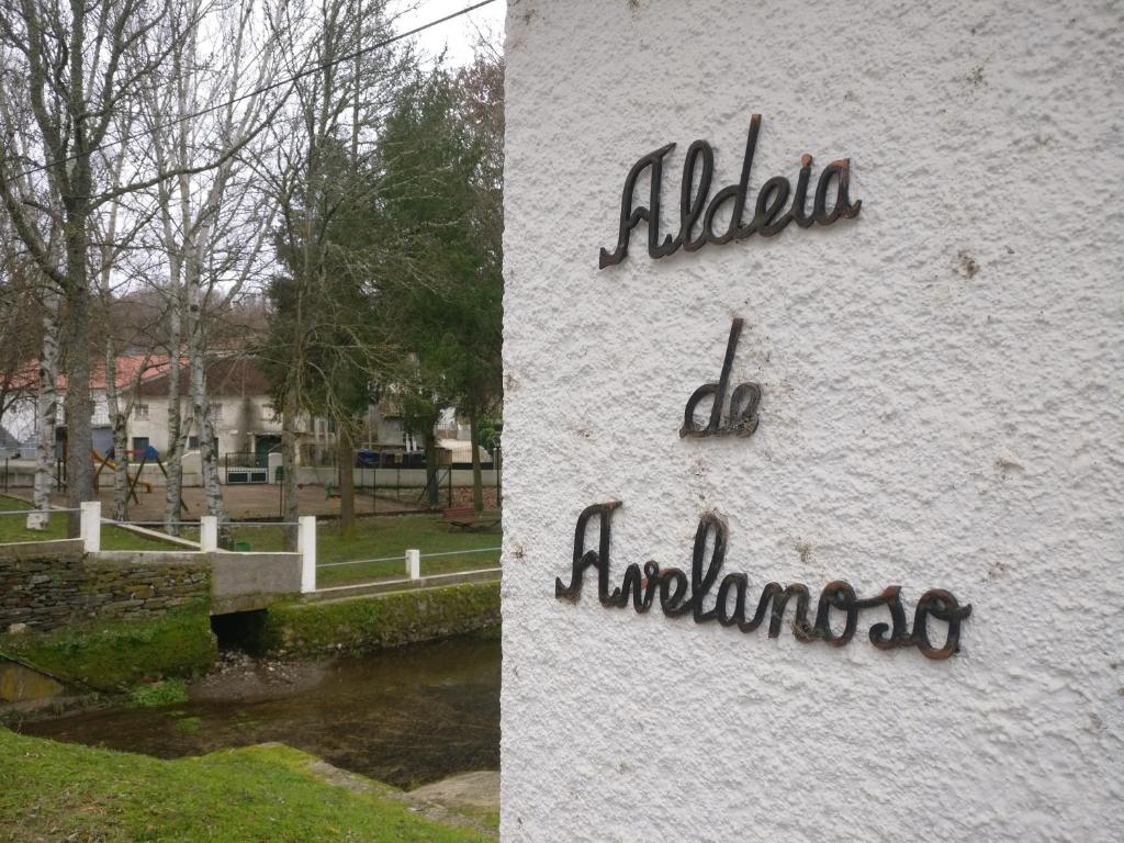
[[[239,15],[252,17],[242,11],[244,7],[248,2],[237,6]],[[165,62],[184,40],[198,39],[202,8],[182,0],[102,0],[96,4],[0,0],[0,198],[28,255],[60,293],[72,507],[89,499],[93,486],[89,384],[91,293],[99,252],[91,243],[96,216],[119,197],[167,179],[221,169],[253,136],[244,121],[234,119],[232,105],[225,112],[228,119],[220,121],[230,133],[226,143],[153,166],[144,138],[130,135],[129,120],[121,119],[139,109],[152,80],[161,78]],[[169,20],[179,25],[169,29],[164,26]],[[21,119],[15,107],[17,91],[20,100],[26,93],[28,119]],[[265,123],[253,109],[239,110],[238,116],[247,114],[257,120],[257,129]],[[188,118],[185,111],[174,115],[174,119]],[[119,144],[127,149],[120,169],[125,178],[115,180],[101,153]],[[57,233],[57,250],[51,247],[53,233]],[[199,243],[206,239],[192,244],[196,255]]]

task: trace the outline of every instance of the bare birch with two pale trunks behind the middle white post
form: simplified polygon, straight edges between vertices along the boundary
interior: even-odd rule
[[[284,6],[279,7],[282,11]],[[182,508],[182,459],[190,429],[199,441],[207,513],[227,514],[219,483],[215,419],[207,391],[209,314],[237,299],[259,269],[272,220],[250,171],[235,153],[257,137],[277,114],[285,90],[275,89],[281,70],[279,42],[261,26],[262,11],[243,0],[229,4],[185,0],[164,27],[171,71],[146,91],[145,119],[157,171],[176,170],[156,187],[160,248],[166,255],[169,300],[169,451],[164,520],[176,533]],[[208,33],[221,33],[216,47]],[[207,111],[209,102],[221,108]],[[221,161],[201,174],[193,162]],[[178,362],[187,357],[188,383]],[[184,386],[187,387],[184,389]],[[190,401],[184,424],[181,398]]]

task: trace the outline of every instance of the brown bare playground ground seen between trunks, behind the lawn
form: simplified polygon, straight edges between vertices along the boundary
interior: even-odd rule
[[[13,489],[13,495],[21,498],[30,498],[30,489]],[[405,513],[418,509],[415,499],[416,492],[402,492],[401,501],[391,498],[380,497],[372,500],[370,495],[362,492],[355,500],[355,511],[359,515],[388,515],[391,513]],[[306,486],[299,492],[301,515],[338,515],[338,498],[326,499],[324,487]],[[99,495],[101,499],[102,514],[109,517],[114,506],[114,492],[111,487],[102,487]],[[160,520],[164,517],[164,488],[153,487],[151,492],[137,487],[137,498],[140,502],[129,506],[129,519],[134,522]],[[196,520],[203,509],[203,490],[184,489],[183,499],[188,505],[184,520]],[[224,486],[223,500],[226,502],[233,520],[247,518],[280,518],[281,489],[278,486]],[[56,493],[54,501],[57,506],[66,506],[66,496]]]

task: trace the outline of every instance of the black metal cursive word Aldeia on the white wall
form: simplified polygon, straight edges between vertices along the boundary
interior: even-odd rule
[[[707,199],[710,196],[710,181],[714,179],[714,148],[706,140],[696,140],[687,148],[683,180],[679,189],[679,234],[674,237],[669,234],[662,242],[660,239],[660,189],[663,183],[663,157],[674,149],[676,145],[661,146],[633,164],[625,178],[625,188],[620,197],[620,227],[617,233],[617,247],[613,252],[601,248],[598,268],[604,270],[606,266],[620,263],[625,259],[625,255],[628,254],[628,238],[632,235],[632,229],[642,220],[647,221],[647,253],[653,259],[660,259],[679,251],[680,246],[687,252],[696,252],[708,243],[723,244],[731,241],[743,241],[753,234],[772,237],[774,234],[780,234],[789,223],[794,221],[800,228],[807,228],[813,223],[827,226],[840,217],[859,216],[862,200],[859,199],[852,203],[849,196],[850,158],[833,161],[824,167],[816,184],[812,214],[808,214],[807,196],[808,180],[812,174],[812,156],[804,155],[800,158],[800,174],[796,179],[792,207],[787,212],[781,212],[785,210],[789,194],[794,191],[788,179],[783,175],[774,175],[765,181],[761,185],[761,190],[758,191],[753,219],[749,224],[742,225],[742,215],[749,199],[750,169],[753,166],[753,155],[756,152],[760,130],[761,115],[753,115],[750,119],[749,138],[745,142],[745,156],[742,160],[742,176],[736,184],[725,187],[715,193],[709,205]],[[634,208],[633,192],[645,170],[651,170],[651,191],[647,207],[641,205]],[[695,188],[696,171],[698,171],[697,190]],[[833,183],[835,184],[835,203],[828,210],[827,192]],[[729,225],[725,232],[715,232],[715,217],[722,207],[731,201],[733,207],[731,208]],[[696,234],[700,218],[703,225]]]

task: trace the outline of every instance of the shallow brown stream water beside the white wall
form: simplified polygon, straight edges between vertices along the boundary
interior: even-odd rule
[[[290,680],[281,687],[212,678],[187,704],[20,731],[164,759],[278,741],[402,788],[499,769],[498,641],[455,638],[281,670]]]

